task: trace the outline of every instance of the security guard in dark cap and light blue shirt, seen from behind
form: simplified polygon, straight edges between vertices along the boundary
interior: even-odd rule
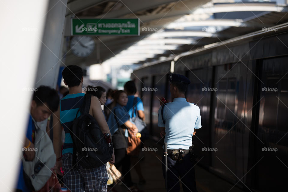
[[[196,104],[189,103],[185,99],[184,93],[190,84],[187,77],[172,74],[169,76],[169,81],[173,102],[162,105],[158,111],[160,135],[161,137],[165,135],[164,143],[167,143],[168,149],[167,191],[180,190],[180,176],[184,192],[197,192],[192,157],[192,136],[195,135],[196,129],[201,128],[200,109]],[[160,101],[160,104],[163,103]],[[162,162],[164,175],[164,158]]]

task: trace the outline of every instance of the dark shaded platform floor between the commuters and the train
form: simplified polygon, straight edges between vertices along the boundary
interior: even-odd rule
[[[165,180],[162,175],[161,159],[163,155],[162,145],[156,144],[154,140],[146,140],[144,142],[144,147],[158,149],[154,151],[141,151],[140,161],[143,176],[146,179],[146,184],[137,184],[139,178],[134,168],[131,169],[132,181],[136,186],[143,191],[147,192],[166,192],[165,190]],[[132,166],[131,166],[132,167]],[[121,171],[121,169],[120,169]],[[229,191],[229,192],[243,192],[243,190],[234,186],[225,180],[209,173],[202,167],[195,165],[195,176],[196,176],[196,186],[198,192],[218,192],[218,191]],[[180,183],[180,191],[182,190],[182,185]],[[125,185],[114,185],[112,188],[108,187],[108,192],[126,192],[130,191]]]

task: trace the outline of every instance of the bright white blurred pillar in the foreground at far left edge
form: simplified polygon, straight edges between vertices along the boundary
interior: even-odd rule
[[[48,0],[1,0],[0,4],[0,191],[14,191]]]

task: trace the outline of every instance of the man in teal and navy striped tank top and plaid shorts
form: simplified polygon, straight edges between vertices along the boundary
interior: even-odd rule
[[[105,166],[106,162],[102,162],[103,164],[100,167],[89,167],[88,165],[85,166],[85,164],[83,164],[83,160],[89,158],[88,155],[90,155],[91,153],[88,153],[89,149],[84,147],[82,151],[88,151],[87,155],[80,156],[82,152],[78,150],[79,146],[75,146],[76,143],[85,144],[85,141],[82,140],[81,133],[75,133],[75,121],[81,118],[82,115],[78,113],[78,111],[82,109],[85,101],[90,101],[90,98],[91,103],[90,106],[88,105],[90,107],[88,107],[89,115],[94,117],[93,120],[96,120],[99,128],[102,131],[102,134],[105,134],[105,136],[102,135],[101,138],[105,137],[106,139],[111,140],[111,134],[102,113],[100,101],[95,96],[84,97],[85,94],[82,93],[83,72],[80,67],[76,65],[69,65],[63,70],[62,76],[64,78],[65,85],[68,86],[69,94],[60,100],[59,108],[55,112],[55,114],[53,114],[53,146],[57,158],[57,171],[58,173],[60,173],[60,171],[64,170],[64,185],[72,192],[107,191],[108,174]],[[93,120],[91,119],[87,126],[89,126],[91,122],[93,124]],[[84,121],[83,124],[85,123]],[[81,122],[78,121],[77,125],[79,124],[81,127]],[[61,161],[62,126],[65,131],[65,142],[62,150],[63,163]],[[91,134],[91,138],[94,137],[99,137],[99,135]],[[103,140],[101,141],[103,142]],[[98,142],[96,142],[96,144],[97,143]],[[110,143],[108,143],[107,145],[112,146],[110,145]],[[104,146],[104,149],[107,148],[105,148]],[[96,153],[98,150],[101,151],[103,149],[92,150],[94,150],[94,152]],[[113,152],[109,162],[113,164],[114,159],[115,156]],[[101,161],[101,158],[99,158],[99,161]],[[87,160],[86,162],[89,163],[89,161]]]

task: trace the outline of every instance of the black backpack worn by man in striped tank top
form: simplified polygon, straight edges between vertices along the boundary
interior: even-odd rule
[[[89,114],[91,96],[85,94],[70,134],[73,140],[73,165],[78,164],[87,169],[106,164],[113,154],[110,135],[104,135],[94,117]],[[81,116],[77,118],[79,112]]]

